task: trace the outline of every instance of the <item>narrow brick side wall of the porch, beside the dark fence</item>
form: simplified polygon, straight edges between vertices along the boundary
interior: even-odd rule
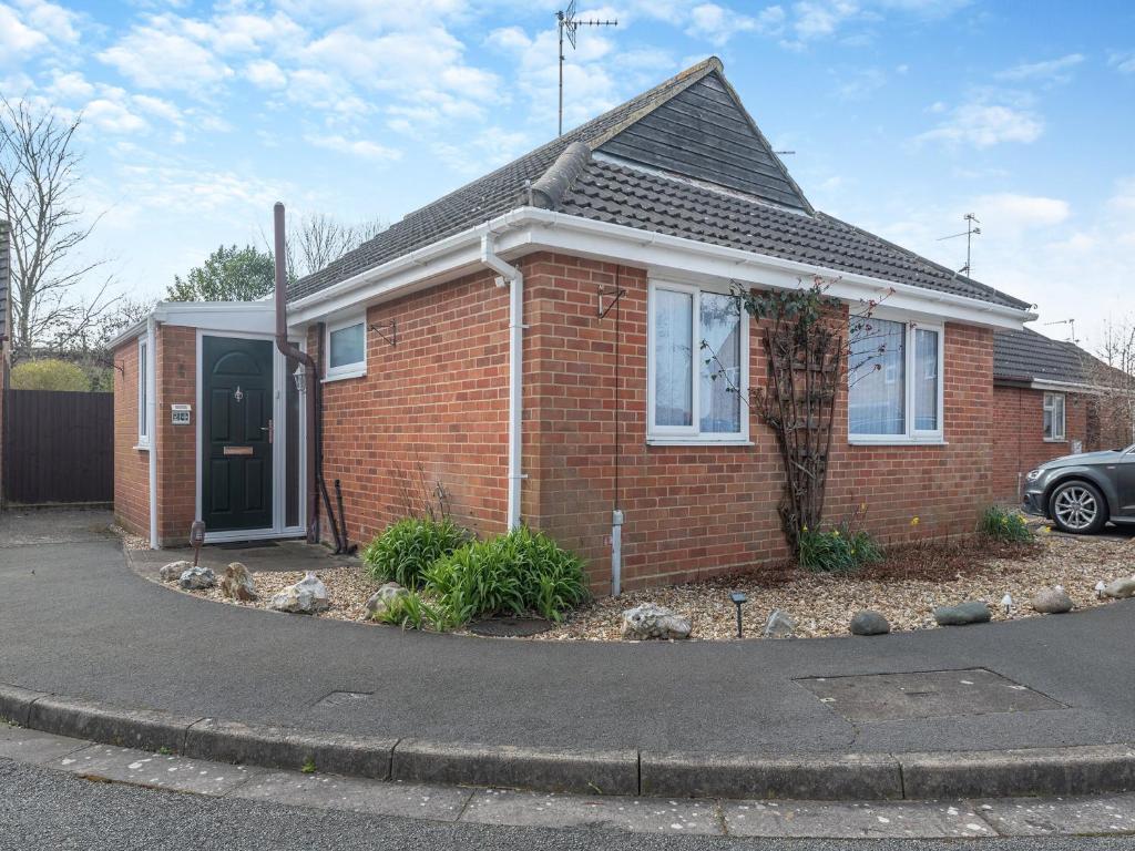
[[[138,340],[114,352],[115,519],[135,534],[150,536],[150,453],[138,443]]]

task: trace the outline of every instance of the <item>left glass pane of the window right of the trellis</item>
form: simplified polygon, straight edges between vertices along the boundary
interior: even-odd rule
[[[858,327],[857,326],[861,326]],[[852,320],[848,428],[852,435],[906,433],[906,326]]]

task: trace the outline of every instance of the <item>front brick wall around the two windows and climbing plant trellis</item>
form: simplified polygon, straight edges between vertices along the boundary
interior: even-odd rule
[[[624,587],[688,581],[787,555],[776,515],[779,454],[755,415],[751,447],[646,445],[647,276],[617,271],[627,295],[616,373],[615,313],[602,322],[596,315],[596,289],[614,285],[616,267],[564,255],[529,259],[527,519],[585,555],[594,587],[607,587],[617,408]],[[829,519],[866,505],[866,525],[886,540],[974,529],[993,496],[992,332],[949,325],[944,345],[944,446],[848,446],[841,395]],[[754,385],[765,374],[754,329]]]

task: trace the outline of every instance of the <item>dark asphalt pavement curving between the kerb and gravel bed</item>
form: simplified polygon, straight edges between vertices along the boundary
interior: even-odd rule
[[[98,516],[0,517],[0,682],[183,715],[488,744],[799,752],[1135,738],[1135,603],[874,639],[606,644],[404,633],[176,593],[131,572],[96,520],[92,531]],[[1066,708],[852,724],[794,682],[973,667]],[[333,691],[371,696],[316,706]]]

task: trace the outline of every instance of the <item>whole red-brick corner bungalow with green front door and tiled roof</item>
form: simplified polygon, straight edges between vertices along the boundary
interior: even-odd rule
[[[599,591],[620,534],[628,588],[785,555],[775,440],[741,401],[765,356],[729,294],[814,276],[847,305],[885,296],[886,345],[838,399],[827,516],[970,531],[995,496],[994,331],[1029,305],[813,209],[714,58],[288,288],[351,539],[440,491],[481,533],[547,530]],[[195,516],[212,540],[305,528],[271,322],[267,303],[162,304],[116,342],[117,512],[155,546]],[[741,394],[709,380],[703,340]]]

